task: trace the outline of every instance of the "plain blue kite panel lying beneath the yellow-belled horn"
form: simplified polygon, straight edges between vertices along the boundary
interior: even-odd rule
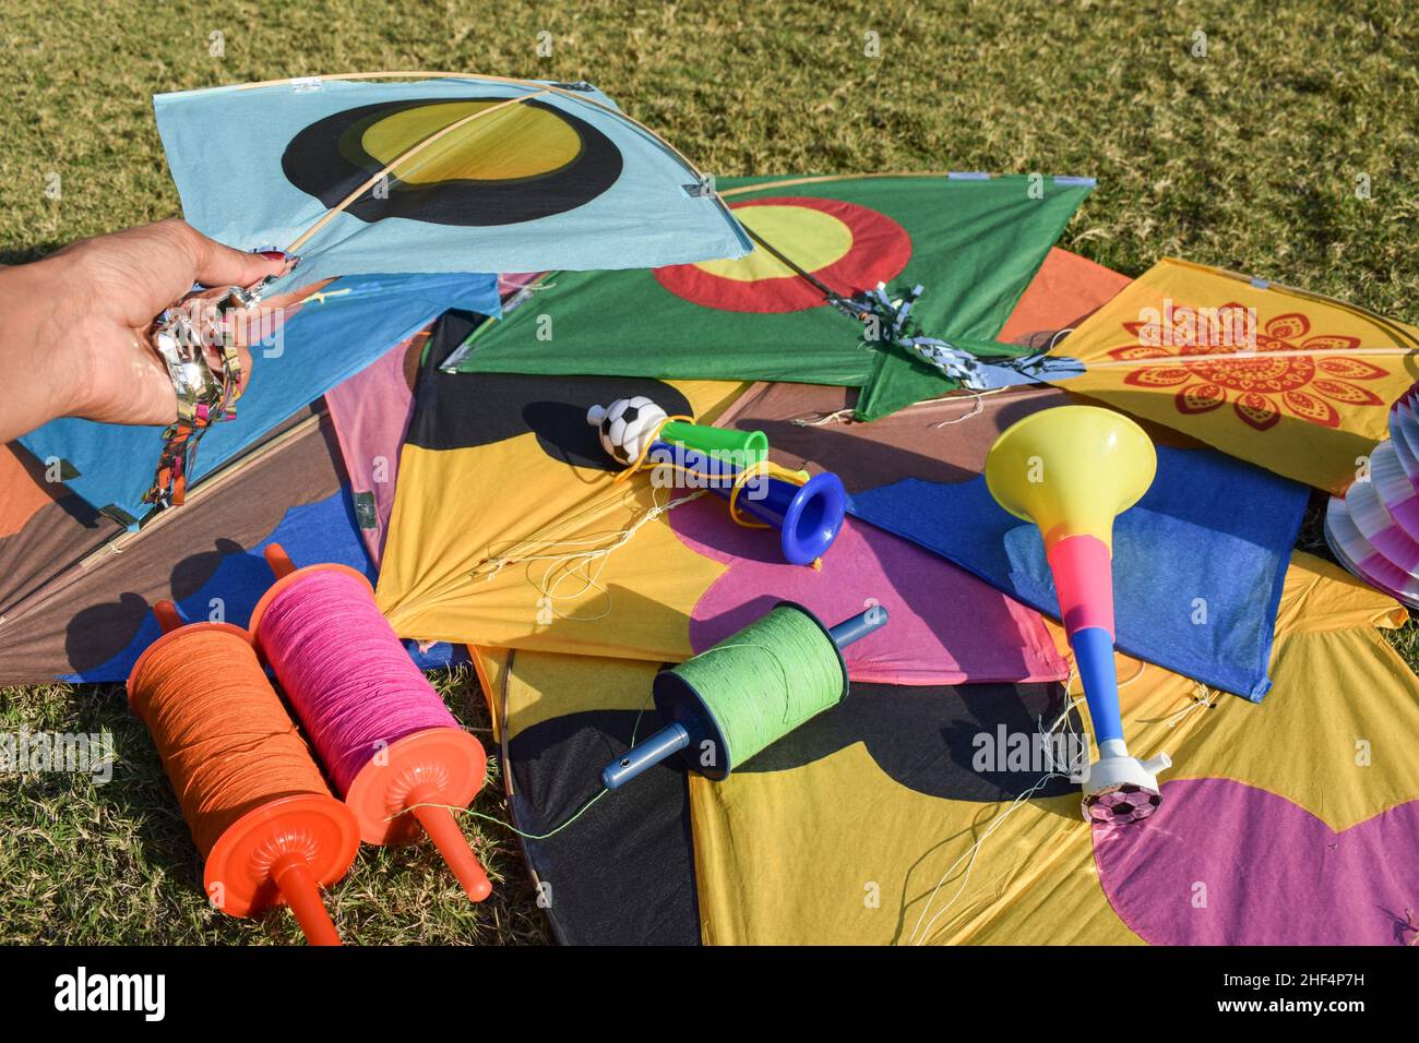
[[[1259,702],[1308,498],[1222,453],[1159,446],[1152,487],[1114,521],[1117,647]],[[1040,531],[1003,511],[985,477],[908,478],[854,494],[849,509],[1059,616]]]

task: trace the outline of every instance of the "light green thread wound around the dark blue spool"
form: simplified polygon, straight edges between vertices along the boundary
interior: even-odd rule
[[[837,705],[846,688],[833,640],[810,616],[786,605],[674,673],[700,692],[731,766]]]

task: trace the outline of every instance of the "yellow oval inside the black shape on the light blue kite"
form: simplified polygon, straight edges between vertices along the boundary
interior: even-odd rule
[[[389,165],[426,138],[475,112],[502,105],[494,101],[448,101],[393,112],[366,128],[360,146]],[[410,184],[447,180],[498,182],[535,177],[566,166],[582,150],[582,139],[555,112],[531,105],[507,105],[471,119],[421,149],[394,175]]]

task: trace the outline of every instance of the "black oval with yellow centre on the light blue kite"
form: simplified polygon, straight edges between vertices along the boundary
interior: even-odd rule
[[[430,133],[507,101],[414,98],[345,109],[297,133],[281,170],[295,187],[335,207]],[[585,206],[622,173],[622,153],[610,138],[542,101],[508,105],[465,128],[392,170],[387,183],[368,189],[346,213],[362,221],[517,224]]]

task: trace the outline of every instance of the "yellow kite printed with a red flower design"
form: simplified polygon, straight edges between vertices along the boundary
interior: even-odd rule
[[[1174,258],[1060,351],[1087,368],[1069,390],[1331,492],[1364,473],[1419,377],[1419,328]]]

